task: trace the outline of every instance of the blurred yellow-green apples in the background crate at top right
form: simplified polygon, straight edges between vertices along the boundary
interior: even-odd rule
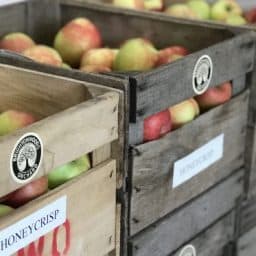
[[[112,3],[118,7],[162,11],[175,17],[213,20],[230,25],[256,23],[256,8],[243,12],[236,0],[216,0],[213,4],[206,0],[184,0],[184,3],[167,7],[164,7],[164,0],[113,0]]]

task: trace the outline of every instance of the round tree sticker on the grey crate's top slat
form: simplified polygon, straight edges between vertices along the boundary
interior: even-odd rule
[[[203,55],[197,61],[193,71],[193,89],[196,94],[204,93],[210,85],[212,79],[213,64],[208,55]]]

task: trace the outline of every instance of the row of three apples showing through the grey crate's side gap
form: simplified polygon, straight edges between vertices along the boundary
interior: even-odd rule
[[[191,122],[200,113],[229,101],[231,97],[232,85],[230,82],[226,82],[208,89],[201,95],[149,116],[144,120],[144,142],[161,138]]]

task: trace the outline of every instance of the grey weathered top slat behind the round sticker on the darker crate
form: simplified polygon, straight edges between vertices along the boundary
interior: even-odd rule
[[[213,61],[211,87],[252,71],[254,50],[253,36],[244,34],[189,55],[172,65],[137,75],[137,118],[144,119],[194,96],[192,74],[201,56],[207,54]]]

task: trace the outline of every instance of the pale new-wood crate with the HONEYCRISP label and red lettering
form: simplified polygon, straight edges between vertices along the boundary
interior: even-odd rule
[[[42,142],[38,150],[43,157],[33,179],[87,153],[92,163],[88,172],[1,218],[0,254],[19,250],[15,255],[105,256],[119,250],[120,213],[116,214],[116,161],[111,145],[117,145],[122,93],[3,64],[0,77],[0,111],[27,111],[39,119],[0,138],[0,196],[25,184],[17,183],[9,171],[12,150],[24,135],[36,134]],[[56,221],[46,221],[46,216]],[[28,227],[34,227],[33,232]],[[15,235],[13,240],[16,232],[23,236]]]

